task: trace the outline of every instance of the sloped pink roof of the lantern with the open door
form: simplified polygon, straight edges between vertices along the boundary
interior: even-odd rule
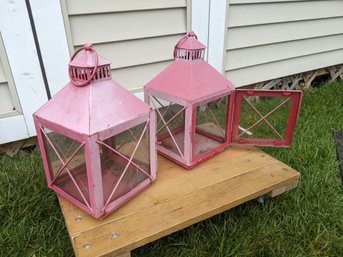
[[[180,42],[198,41],[196,37],[189,36],[189,34],[186,37],[188,37],[186,40],[181,39]],[[179,48],[179,43],[176,45],[176,49]],[[182,59],[178,58],[178,55],[172,64],[144,87],[176,96],[188,102],[196,102],[235,89],[229,80],[202,58]]]

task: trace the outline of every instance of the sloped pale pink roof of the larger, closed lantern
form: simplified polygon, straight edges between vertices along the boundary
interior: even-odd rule
[[[91,59],[90,56],[88,59]],[[98,69],[100,63],[101,58]],[[92,80],[82,86],[69,82],[35,116],[76,133],[93,135],[149,111],[146,103],[117,82],[106,78]]]

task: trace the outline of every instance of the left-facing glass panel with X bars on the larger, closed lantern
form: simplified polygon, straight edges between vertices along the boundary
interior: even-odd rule
[[[47,138],[43,136],[51,178],[53,180],[55,179],[53,184],[61,188],[70,196],[79,200],[81,203],[86,204],[85,200],[89,203],[89,189],[84,148],[82,147],[77,151],[81,143],[46,128],[44,128],[44,132],[63,161],[62,163],[59,160]],[[64,167],[64,164],[67,163],[71,157],[72,159],[68,165]],[[70,175],[68,174],[68,171]],[[82,197],[80,191],[84,197]]]

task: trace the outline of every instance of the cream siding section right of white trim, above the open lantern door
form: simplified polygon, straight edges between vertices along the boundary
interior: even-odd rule
[[[236,86],[343,63],[343,1],[229,0],[225,75]]]

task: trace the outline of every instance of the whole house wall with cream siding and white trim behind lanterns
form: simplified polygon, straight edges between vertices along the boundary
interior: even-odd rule
[[[341,0],[6,1],[0,144],[35,135],[32,113],[68,83],[70,54],[83,43],[143,98],[142,86],[190,29],[207,45],[205,59],[238,87],[343,63]]]

